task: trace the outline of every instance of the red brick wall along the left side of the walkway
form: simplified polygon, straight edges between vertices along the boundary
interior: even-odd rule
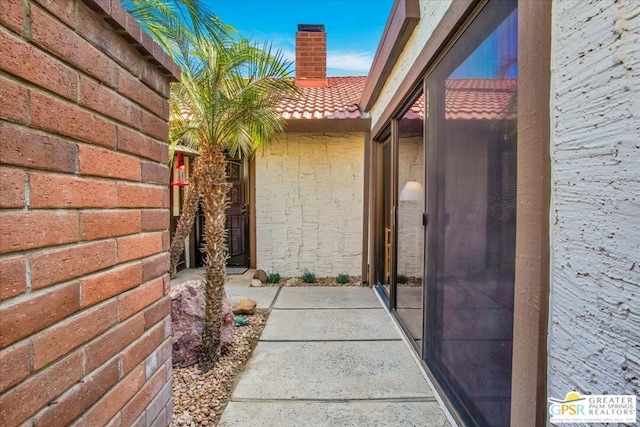
[[[166,425],[169,81],[118,0],[0,0],[0,424]]]

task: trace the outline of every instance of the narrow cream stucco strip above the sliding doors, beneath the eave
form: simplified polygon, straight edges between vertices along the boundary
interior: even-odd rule
[[[433,30],[444,16],[453,0],[420,0],[420,22],[396,61],[391,74],[387,78],[380,97],[371,108],[371,128],[376,126],[382,112],[407,76],[411,65],[416,61],[420,51],[433,34]]]

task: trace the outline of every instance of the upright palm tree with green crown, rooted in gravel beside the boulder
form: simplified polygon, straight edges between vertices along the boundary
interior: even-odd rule
[[[208,371],[220,351],[228,257],[227,156],[250,156],[281,132],[284,124],[276,105],[295,89],[288,77],[291,63],[248,40],[199,41],[186,59],[181,82],[171,91],[170,129],[174,140],[200,151],[190,193],[200,193],[205,216],[207,305],[200,369]]]

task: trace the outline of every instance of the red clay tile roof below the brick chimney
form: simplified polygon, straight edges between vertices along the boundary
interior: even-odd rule
[[[278,111],[284,119],[359,119],[358,101],[366,76],[328,77],[323,87],[298,87],[295,98],[283,99]]]

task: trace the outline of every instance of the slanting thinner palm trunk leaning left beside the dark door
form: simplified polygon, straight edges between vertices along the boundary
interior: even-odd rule
[[[176,275],[176,268],[184,251],[184,241],[193,229],[193,223],[198,213],[198,202],[200,201],[200,189],[198,185],[200,183],[200,175],[202,174],[201,163],[202,162],[196,163],[193,174],[191,175],[189,189],[182,202],[182,212],[180,213],[176,231],[171,240],[171,248],[169,249],[169,272],[171,273],[171,277]]]

